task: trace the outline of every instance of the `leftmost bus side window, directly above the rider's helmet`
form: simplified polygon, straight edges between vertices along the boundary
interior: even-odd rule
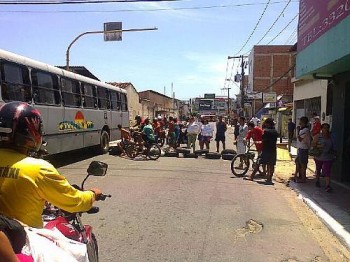
[[[1,63],[1,96],[5,102],[32,102],[29,70],[15,63]]]

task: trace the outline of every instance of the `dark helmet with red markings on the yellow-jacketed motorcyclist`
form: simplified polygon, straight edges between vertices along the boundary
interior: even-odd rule
[[[9,102],[0,107],[0,146],[25,148],[37,152],[42,144],[40,112],[24,102]]]

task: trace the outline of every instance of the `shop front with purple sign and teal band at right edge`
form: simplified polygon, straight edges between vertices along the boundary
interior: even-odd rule
[[[333,165],[333,177],[339,181],[350,181],[350,156],[347,153],[347,141],[350,141],[347,116],[350,112],[348,32],[350,1],[300,1],[296,78],[298,81],[326,81],[327,96],[326,106],[322,106],[324,99],[319,100],[319,97],[295,100],[295,114],[307,115],[315,111],[324,119],[323,122],[331,124],[338,153]]]

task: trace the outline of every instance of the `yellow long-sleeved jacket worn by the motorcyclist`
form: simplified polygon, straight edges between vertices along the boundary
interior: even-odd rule
[[[42,227],[45,201],[79,212],[91,208],[93,196],[91,191],[73,188],[47,161],[0,149],[0,214]]]

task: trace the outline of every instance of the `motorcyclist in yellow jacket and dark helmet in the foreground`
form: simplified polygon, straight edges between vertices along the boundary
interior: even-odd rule
[[[42,227],[45,201],[68,212],[87,211],[101,190],[80,191],[43,159],[29,157],[42,144],[40,112],[23,102],[0,107],[0,215]]]

